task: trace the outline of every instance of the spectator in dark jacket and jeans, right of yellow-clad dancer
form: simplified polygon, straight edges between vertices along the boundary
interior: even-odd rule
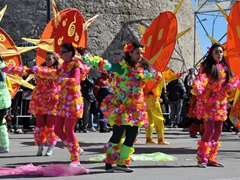
[[[181,119],[183,100],[186,98],[186,89],[181,79],[176,79],[168,83],[167,95],[171,109],[170,127],[177,128]]]

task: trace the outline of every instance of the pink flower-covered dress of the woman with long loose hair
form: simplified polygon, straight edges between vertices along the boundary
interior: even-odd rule
[[[212,81],[200,68],[194,80],[192,92],[197,97],[197,118],[204,120],[225,121],[227,118],[227,95],[238,86],[238,77],[226,82],[226,69],[217,64],[220,80]]]

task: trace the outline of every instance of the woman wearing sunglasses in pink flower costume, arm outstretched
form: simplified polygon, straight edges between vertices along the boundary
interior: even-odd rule
[[[83,114],[80,81],[86,78],[89,68],[74,58],[75,48],[70,43],[62,45],[60,56],[64,62],[58,70],[35,66],[32,71],[40,78],[56,81],[60,86],[54,132],[71,154],[70,166],[78,166],[80,146],[74,127],[77,118],[81,118]]]

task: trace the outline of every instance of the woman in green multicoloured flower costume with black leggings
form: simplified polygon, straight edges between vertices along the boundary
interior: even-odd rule
[[[148,125],[143,87],[149,79],[161,79],[161,74],[143,58],[142,44],[129,43],[123,51],[124,59],[118,64],[122,73],[115,73],[114,93],[109,94],[102,102],[102,112],[113,126],[113,134],[104,146],[106,172],[113,172],[112,164],[117,164],[117,170],[133,172],[128,165],[131,162],[130,154],[134,152],[132,146],[138,127]],[[120,143],[124,131],[125,140]]]

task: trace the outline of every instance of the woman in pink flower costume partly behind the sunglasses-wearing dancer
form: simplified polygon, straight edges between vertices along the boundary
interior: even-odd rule
[[[47,52],[45,62],[41,65],[48,68],[58,69],[58,57],[54,52]],[[31,69],[28,73],[33,73]],[[29,113],[36,116],[34,127],[34,140],[38,145],[37,156],[42,156],[43,146],[48,146],[46,156],[52,155],[52,150],[57,143],[57,136],[54,133],[56,109],[58,102],[58,84],[36,74],[36,87],[31,94]]]

